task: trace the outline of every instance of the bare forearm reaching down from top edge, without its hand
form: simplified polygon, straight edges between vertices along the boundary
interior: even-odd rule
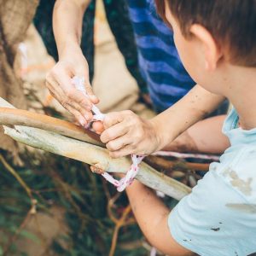
[[[59,57],[67,46],[79,46],[84,11],[90,0],[57,0],[53,14],[53,29]]]

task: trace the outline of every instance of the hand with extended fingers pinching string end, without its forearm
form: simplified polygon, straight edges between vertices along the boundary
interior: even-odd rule
[[[74,76],[84,77],[84,88],[88,94],[77,90],[72,83]],[[72,113],[80,123],[86,126],[92,118],[92,103],[99,102],[94,95],[89,80],[89,68],[79,45],[69,44],[61,53],[60,61],[46,76],[46,86],[55,99]]]

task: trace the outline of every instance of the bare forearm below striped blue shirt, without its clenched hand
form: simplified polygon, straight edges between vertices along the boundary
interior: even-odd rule
[[[160,148],[172,143],[183,131],[212,113],[223,101],[223,96],[212,94],[200,85],[195,85],[183,99],[152,119],[160,134]]]

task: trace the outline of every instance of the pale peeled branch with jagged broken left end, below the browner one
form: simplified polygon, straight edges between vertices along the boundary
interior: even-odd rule
[[[0,107],[9,108],[9,103],[0,99]],[[6,111],[5,114],[7,114]],[[11,113],[11,115],[13,114],[14,112]],[[2,113],[0,112],[0,116],[1,115]],[[37,114],[35,113],[35,115]],[[42,115],[40,115],[40,117],[42,118]],[[12,125],[15,125],[13,116],[9,118],[9,120],[12,120]],[[27,126],[26,123],[24,124]],[[30,124],[33,125],[32,122]],[[4,126],[4,131],[7,135],[13,137],[20,143],[25,143],[26,145],[40,148],[51,153],[60,154],[74,160],[80,160],[91,166],[101,167],[106,172],[125,173],[131,165],[131,160],[128,157],[112,159],[106,148],[65,137],[52,132],[52,130],[43,131],[26,126],[15,125],[15,128]],[[44,125],[40,126],[40,128],[44,129]],[[184,195],[188,195],[191,191],[191,189],[183,183],[179,183],[171,177],[167,177],[155,171],[154,168],[144,162],[140,165],[140,172],[137,175],[137,179],[148,187],[159,190],[177,200],[183,198]]]

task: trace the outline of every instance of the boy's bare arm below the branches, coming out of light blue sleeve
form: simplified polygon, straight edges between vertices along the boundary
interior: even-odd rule
[[[168,227],[170,211],[152,190],[134,181],[126,193],[137,223],[152,246],[168,255],[193,255],[172,238]]]

